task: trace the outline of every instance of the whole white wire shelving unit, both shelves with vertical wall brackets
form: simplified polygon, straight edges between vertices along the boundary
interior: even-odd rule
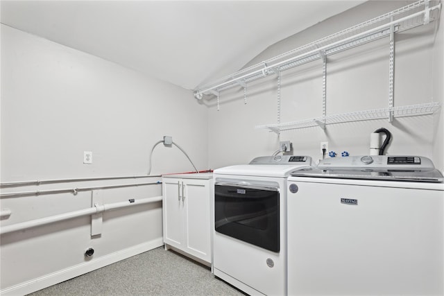
[[[431,0],[420,0],[411,3],[397,10],[387,12],[384,15],[369,19],[361,24],[357,24],[343,31],[339,31],[327,37],[300,46],[274,58],[265,60],[229,76],[225,76],[210,85],[200,87],[195,90],[194,96],[200,99],[203,95],[214,95],[218,99],[217,105],[219,110],[219,94],[225,89],[231,87],[244,87],[249,82],[266,78],[271,75],[280,77],[282,71],[298,67],[302,64],[315,60],[323,60],[323,110],[322,116],[315,119],[305,119],[302,121],[293,121],[289,123],[280,123],[280,94],[278,93],[278,123],[268,125],[257,125],[256,128],[268,128],[273,132],[280,133],[282,130],[292,130],[297,128],[309,128],[312,126],[320,126],[326,128],[327,124],[345,123],[350,121],[364,121],[372,119],[388,119],[393,121],[395,116],[416,116],[423,114],[433,114],[441,105],[439,103],[427,103],[419,105],[408,105],[401,107],[393,107],[393,61],[394,61],[394,35],[411,28],[416,28],[430,21],[434,21],[441,12],[441,3],[431,6]],[[388,37],[390,42],[390,60],[389,60],[389,97],[388,107],[375,110],[366,110],[359,112],[350,112],[343,114],[326,114],[326,57],[341,51],[355,48],[368,42]],[[280,82],[280,80],[278,80]],[[211,98],[211,97],[210,97]],[[244,92],[244,101],[246,94]]]

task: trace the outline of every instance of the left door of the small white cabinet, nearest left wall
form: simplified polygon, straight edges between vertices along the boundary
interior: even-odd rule
[[[164,178],[163,182],[163,223],[164,243],[173,247],[184,246],[184,216],[182,201],[182,180]]]

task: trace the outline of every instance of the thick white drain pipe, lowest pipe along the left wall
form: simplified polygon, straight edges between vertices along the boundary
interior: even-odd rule
[[[155,196],[154,198],[143,198],[140,200],[130,199],[125,202],[114,202],[112,204],[94,204],[94,207],[88,209],[81,209],[79,211],[71,211],[69,213],[60,214],[56,216],[49,216],[45,218],[30,220],[22,223],[15,223],[12,225],[6,225],[0,228],[0,234],[7,234],[9,232],[17,232],[23,229],[29,229],[37,226],[42,226],[50,223],[56,223],[63,220],[69,220],[72,218],[78,218],[81,216],[89,216],[93,214],[100,214],[103,211],[110,211],[113,209],[121,209],[123,207],[131,207],[137,204],[147,204],[151,202],[159,202],[162,200],[162,196]]]

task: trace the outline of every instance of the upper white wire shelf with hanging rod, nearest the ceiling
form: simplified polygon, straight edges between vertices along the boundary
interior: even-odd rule
[[[395,33],[406,31],[416,26],[428,24],[434,20],[434,12],[441,9],[441,4],[429,7],[429,0],[420,0],[407,6],[387,12],[361,24],[357,24],[343,31],[305,44],[274,58],[265,60],[241,71],[230,74],[194,91],[196,98],[203,94],[217,94],[224,89],[248,82],[277,75],[280,71],[297,67],[300,64],[321,59],[323,55],[332,55],[340,51],[351,49],[390,35],[390,28],[395,27]]]

